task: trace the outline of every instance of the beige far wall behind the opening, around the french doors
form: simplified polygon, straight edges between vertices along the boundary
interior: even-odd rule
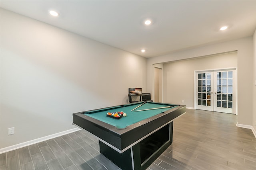
[[[164,101],[194,107],[194,71],[230,67],[237,67],[236,52],[164,64]]]

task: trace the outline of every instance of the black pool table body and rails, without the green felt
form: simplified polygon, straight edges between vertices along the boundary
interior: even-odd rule
[[[145,170],[172,143],[173,120],[186,113],[186,106],[176,105],[126,129],[116,129],[113,125],[84,115],[84,112],[73,113],[73,124],[99,139],[100,152],[106,158],[122,170]],[[148,151],[151,148],[152,151]],[[142,156],[148,153],[149,156]]]

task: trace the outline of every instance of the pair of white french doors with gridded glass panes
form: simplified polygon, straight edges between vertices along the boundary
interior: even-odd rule
[[[196,109],[236,114],[236,69],[197,71]]]

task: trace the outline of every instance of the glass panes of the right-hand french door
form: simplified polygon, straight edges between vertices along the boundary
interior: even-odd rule
[[[233,72],[217,72],[217,107],[233,108]]]

